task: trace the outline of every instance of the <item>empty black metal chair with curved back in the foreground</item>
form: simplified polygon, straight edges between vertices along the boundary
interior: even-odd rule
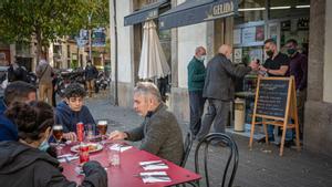
[[[199,173],[199,160],[198,160],[198,156],[199,156],[199,150],[201,148],[203,153],[204,153],[204,169],[205,169],[205,181],[206,181],[206,186],[209,187],[209,172],[208,172],[208,147],[211,143],[216,143],[218,142],[220,148],[229,148],[229,154],[227,157],[227,163],[224,169],[224,174],[222,174],[222,183],[221,183],[221,187],[231,187],[236,173],[237,173],[237,168],[238,168],[238,163],[239,163],[239,152],[238,152],[238,146],[236,144],[236,142],[229,137],[226,134],[221,134],[221,133],[211,133],[206,135],[197,145],[196,150],[195,150],[195,170],[197,174]],[[227,175],[227,173],[230,172],[230,175]],[[228,185],[227,184],[227,176],[229,176],[228,179]],[[199,181],[196,183],[189,183],[191,186],[199,186]]]

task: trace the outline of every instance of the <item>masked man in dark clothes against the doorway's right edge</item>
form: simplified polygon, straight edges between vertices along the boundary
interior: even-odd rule
[[[304,102],[307,98],[308,58],[298,52],[298,42],[290,39],[286,43],[290,56],[290,75],[295,79],[300,137],[303,135]]]

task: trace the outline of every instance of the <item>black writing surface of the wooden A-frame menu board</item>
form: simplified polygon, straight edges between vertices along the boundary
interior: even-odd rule
[[[284,117],[289,80],[260,80],[257,115]]]

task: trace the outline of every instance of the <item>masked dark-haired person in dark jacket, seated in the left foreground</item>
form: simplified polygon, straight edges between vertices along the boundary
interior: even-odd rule
[[[0,184],[11,187],[76,186],[62,174],[59,162],[46,154],[54,124],[52,106],[44,102],[13,103],[6,116],[19,128],[19,142],[0,143]],[[107,174],[97,162],[83,166],[82,186],[107,186]]]

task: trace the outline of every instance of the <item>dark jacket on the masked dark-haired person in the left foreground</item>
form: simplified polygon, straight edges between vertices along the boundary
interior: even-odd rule
[[[55,158],[38,148],[20,142],[1,142],[0,149],[0,184],[3,187],[77,186],[61,174]],[[81,186],[107,186],[107,175],[98,163],[86,163],[83,172],[85,178]]]

